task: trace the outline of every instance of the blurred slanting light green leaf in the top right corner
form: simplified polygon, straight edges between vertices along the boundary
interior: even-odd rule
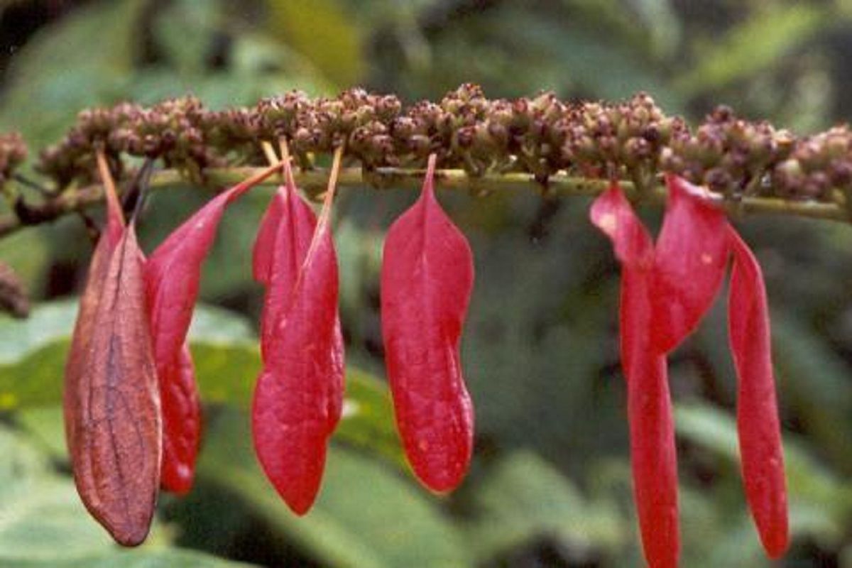
[[[830,24],[826,9],[809,3],[770,5],[715,39],[696,65],[676,80],[683,95],[721,87],[773,66],[783,56],[826,32]]]

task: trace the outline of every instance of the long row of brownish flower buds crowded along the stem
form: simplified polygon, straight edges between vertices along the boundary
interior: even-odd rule
[[[42,152],[38,167],[59,188],[91,181],[99,145],[116,175],[122,153],[203,175],[210,167],[262,164],[259,142],[282,137],[306,168],[314,154],[345,143],[346,157],[365,169],[420,168],[435,153],[442,168],[470,175],[520,171],[542,181],[561,171],[633,181],[668,172],[728,198],[830,201],[832,190],[852,185],[846,128],[797,139],[719,107],[690,130],[645,94],[617,104],[567,102],[552,93],[490,100],[473,84],[408,108],[394,95],[363,89],[315,99],[292,91],[220,112],[193,97],[150,108],[123,103],[81,112],[66,138]]]

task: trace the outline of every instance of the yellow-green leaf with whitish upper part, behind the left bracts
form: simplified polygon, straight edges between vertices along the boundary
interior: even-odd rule
[[[0,409],[60,404],[62,376],[77,317],[76,301],[44,303],[23,321],[0,317]],[[197,307],[189,341],[202,399],[248,409],[260,350],[244,318],[216,307]],[[343,420],[337,436],[402,465],[394,410],[383,382],[348,367]]]

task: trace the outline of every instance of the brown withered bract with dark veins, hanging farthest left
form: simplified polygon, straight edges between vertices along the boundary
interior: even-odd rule
[[[125,546],[147,536],[159,486],[162,433],[134,226],[92,259],[66,366],[66,435],[89,513]]]

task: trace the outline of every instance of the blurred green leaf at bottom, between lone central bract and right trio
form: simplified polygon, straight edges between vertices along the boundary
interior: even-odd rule
[[[612,501],[590,502],[570,479],[528,451],[499,462],[473,499],[468,542],[480,563],[542,537],[580,550],[609,550],[629,535]]]

